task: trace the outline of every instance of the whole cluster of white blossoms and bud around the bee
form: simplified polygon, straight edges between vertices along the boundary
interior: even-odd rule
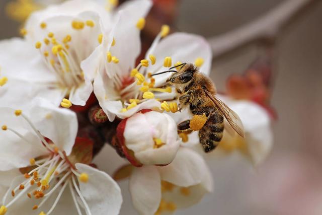
[[[23,38],[0,41],[0,186],[7,190],[0,215],[118,214],[115,180],[124,178],[139,214],[173,213],[213,191],[198,132],[177,131],[192,113],[178,108],[171,74],[152,76],[183,62],[208,76],[210,46],[164,25],[141,53],[151,7],[110,1],[106,10],[101,1],[70,0],[32,13]],[[245,138],[224,131],[210,154],[236,151],[258,165],[272,146],[269,115],[253,102],[221,99],[241,118]],[[105,142],[128,161],[113,178],[93,163]]]

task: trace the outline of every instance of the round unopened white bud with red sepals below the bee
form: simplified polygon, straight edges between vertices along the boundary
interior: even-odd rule
[[[146,111],[123,119],[118,125],[123,153],[134,166],[170,164],[180,146],[177,124],[168,114]]]

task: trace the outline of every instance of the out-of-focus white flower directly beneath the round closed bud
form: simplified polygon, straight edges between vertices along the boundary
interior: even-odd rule
[[[167,166],[133,169],[129,181],[134,207],[139,214],[148,215],[196,204],[212,189],[211,173],[202,156],[184,147]]]

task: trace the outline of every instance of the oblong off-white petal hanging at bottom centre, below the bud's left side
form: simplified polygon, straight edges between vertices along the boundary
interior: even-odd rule
[[[157,168],[135,168],[130,177],[129,190],[133,206],[141,215],[154,214],[161,200],[161,181]]]

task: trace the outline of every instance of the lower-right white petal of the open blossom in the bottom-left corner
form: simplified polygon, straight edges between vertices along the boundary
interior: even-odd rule
[[[122,204],[121,189],[117,183],[105,172],[89,165],[76,164],[77,170],[89,175],[89,181],[83,183],[78,180],[79,188],[92,214],[118,214]]]

